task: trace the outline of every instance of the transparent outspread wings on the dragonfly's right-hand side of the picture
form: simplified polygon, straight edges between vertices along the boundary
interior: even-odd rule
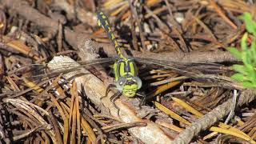
[[[222,65],[220,64],[206,62],[162,61],[150,58],[134,58],[134,60],[145,64],[163,66],[166,69],[174,70],[178,74],[184,75],[188,78],[193,78],[197,81],[217,82],[219,86],[225,86],[226,88],[232,89],[234,88],[234,81],[229,77],[214,74],[223,72]]]

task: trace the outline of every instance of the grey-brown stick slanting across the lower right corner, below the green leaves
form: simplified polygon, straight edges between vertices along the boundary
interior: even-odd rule
[[[238,106],[251,102],[255,98],[255,90],[243,90],[240,98],[238,99]],[[193,122],[191,126],[187,127],[186,130],[183,130],[182,133],[174,139],[173,143],[189,143],[194,136],[199,134],[200,131],[207,130],[210,126],[213,126],[215,122],[218,122],[218,120],[229,114],[230,106],[232,106],[232,98],[222,103],[222,105],[217,106],[214,110],[210,111],[202,118],[199,118],[196,122]]]

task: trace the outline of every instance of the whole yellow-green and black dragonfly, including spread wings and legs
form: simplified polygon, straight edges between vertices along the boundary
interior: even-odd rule
[[[124,95],[127,98],[134,98],[136,95],[138,95],[138,90],[142,88],[142,80],[141,78],[138,77],[138,67],[136,66],[136,62],[141,62],[141,63],[146,63],[146,64],[154,64],[158,66],[163,66],[166,69],[174,70],[175,72],[178,72],[178,74],[184,74],[189,78],[198,78],[198,79],[207,79],[207,80],[212,80],[212,81],[221,81],[216,78],[207,78],[203,74],[198,74],[193,71],[187,71],[187,70],[182,70],[182,64],[178,64],[178,62],[173,62],[173,64],[166,64],[165,61],[161,61],[158,59],[150,59],[150,58],[134,58],[131,56],[125,56],[122,54],[122,46],[118,43],[118,38],[114,36],[114,31],[110,27],[110,22],[109,19],[107,18],[106,14],[104,14],[102,11],[98,11],[97,13],[98,16],[98,26],[101,26],[110,38],[111,43],[114,46],[114,49],[117,53],[116,58],[98,58],[92,61],[87,61],[87,62],[79,62],[81,66],[77,66],[71,69],[66,69],[66,70],[58,70],[57,72],[47,72],[46,74],[38,74],[35,75],[34,78],[36,77],[54,77],[57,76],[58,74],[63,74],[63,73],[68,73],[74,70],[78,70],[79,68],[82,68],[84,66],[93,66],[97,65],[100,63],[104,62],[114,62],[113,70],[114,70],[114,84],[111,84],[108,86],[106,90],[106,95],[109,92],[111,88],[114,88],[118,90],[118,93],[114,94],[112,96],[111,102],[113,102],[114,106],[117,108],[115,105],[114,101],[120,95]],[[181,62],[180,62],[181,63]],[[192,64],[200,64],[200,62],[188,62]],[[219,64],[215,63],[205,63],[202,62],[202,64],[207,64],[207,65],[212,65],[212,66],[222,66]],[[47,68],[44,67],[44,68]],[[117,108],[118,109],[118,108]]]

